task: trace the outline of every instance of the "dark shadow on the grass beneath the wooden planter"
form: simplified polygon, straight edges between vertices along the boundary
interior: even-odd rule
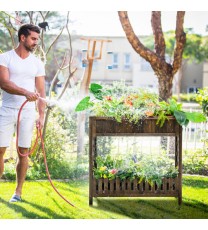
[[[94,198],[95,199],[95,198]],[[132,219],[207,219],[208,205],[185,200],[178,206],[174,198],[96,198],[94,209]]]

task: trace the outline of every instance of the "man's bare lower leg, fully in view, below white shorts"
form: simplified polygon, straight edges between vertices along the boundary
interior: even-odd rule
[[[19,148],[22,154],[26,154],[29,150],[27,148]],[[15,194],[21,196],[22,187],[25,181],[26,173],[28,169],[28,156],[20,156],[18,154],[18,162],[16,167],[16,177],[17,177],[17,187],[15,189]]]

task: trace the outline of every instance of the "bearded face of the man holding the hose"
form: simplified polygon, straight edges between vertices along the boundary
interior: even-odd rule
[[[24,35],[22,35],[21,37],[23,46],[27,51],[30,52],[32,52],[36,48],[38,44],[38,40],[39,40],[39,34],[33,31],[30,31],[30,35],[28,35],[27,37],[25,37]]]

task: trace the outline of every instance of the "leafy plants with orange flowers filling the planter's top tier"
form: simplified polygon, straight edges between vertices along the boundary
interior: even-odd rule
[[[189,121],[204,122],[206,117],[199,112],[185,112],[182,104],[174,99],[160,101],[157,94],[147,90],[132,90],[130,94],[114,94],[111,88],[104,89],[101,85],[90,85],[90,96],[83,98],[75,108],[76,112],[89,109],[95,116],[113,117],[118,122],[123,119],[137,123],[146,117],[157,116],[157,124],[162,126],[169,116],[174,116],[180,125]]]

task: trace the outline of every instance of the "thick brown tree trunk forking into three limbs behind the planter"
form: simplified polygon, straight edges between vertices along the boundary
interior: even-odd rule
[[[186,34],[183,29],[184,11],[177,12],[175,30],[175,48],[172,63],[166,60],[166,44],[161,25],[161,12],[152,11],[152,30],[154,35],[154,51],[145,47],[136,36],[127,11],[118,11],[119,19],[126,37],[133,49],[147,62],[150,63],[153,71],[158,77],[159,96],[161,100],[167,101],[172,96],[172,84],[174,75],[179,70],[182,63],[182,55],[186,43]]]

